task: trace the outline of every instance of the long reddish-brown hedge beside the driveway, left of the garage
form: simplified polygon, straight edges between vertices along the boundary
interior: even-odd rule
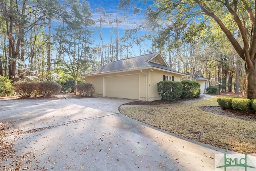
[[[13,84],[14,90],[22,97],[51,97],[59,93],[61,86],[55,82],[19,81]]]

